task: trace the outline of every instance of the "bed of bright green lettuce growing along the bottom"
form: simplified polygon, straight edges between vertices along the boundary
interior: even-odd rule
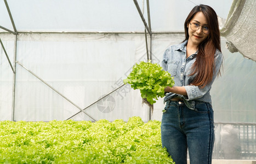
[[[160,121],[0,121],[0,163],[174,163]]]

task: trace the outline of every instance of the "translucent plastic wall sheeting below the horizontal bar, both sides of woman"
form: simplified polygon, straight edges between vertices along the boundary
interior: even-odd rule
[[[11,34],[4,35],[12,38]],[[135,62],[146,61],[144,34],[75,36],[77,34],[20,34],[16,60],[81,108],[87,107],[100,96],[121,86],[122,79],[126,78]],[[4,40],[4,37],[1,38]],[[172,39],[167,41],[169,38]],[[152,39],[152,59],[153,62],[160,63],[164,49],[181,42],[183,34],[155,34]],[[8,50],[12,50],[13,45],[13,42],[5,42],[5,48]],[[12,51],[9,51],[9,54],[12,54]],[[251,86],[252,81],[256,80],[255,62],[244,59],[240,54],[231,54],[226,49],[223,49],[223,54],[223,75],[217,78],[212,88],[213,107],[218,111],[215,112],[215,120],[254,122],[256,104],[253,99],[256,91],[254,87],[247,86]],[[8,108],[3,108],[1,112],[3,118],[10,119],[12,69],[5,56],[2,55],[2,59],[1,79],[5,84],[1,87],[5,93],[2,95],[2,104],[8,104]],[[16,65],[15,120],[63,120],[79,112],[79,109],[21,65]],[[115,110],[101,113],[98,109],[100,104],[98,107],[95,104],[86,111],[90,111],[90,115],[95,115],[97,120],[126,119],[128,113],[130,116],[139,114],[147,120],[147,110],[145,106],[141,107],[140,94],[131,90],[129,86],[112,93],[111,96],[115,99]],[[163,106],[159,100],[155,105],[153,118],[161,119]],[[157,111],[160,113],[157,114]],[[77,116],[81,118],[73,119],[90,119],[84,118],[84,113]]]

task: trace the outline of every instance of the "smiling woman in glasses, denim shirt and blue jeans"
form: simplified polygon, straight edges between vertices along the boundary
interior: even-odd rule
[[[209,91],[217,77],[223,55],[215,11],[197,5],[184,24],[185,40],[170,46],[163,55],[162,67],[174,77],[166,87],[166,112],[162,116],[162,145],[177,164],[212,162],[214,121]]]

